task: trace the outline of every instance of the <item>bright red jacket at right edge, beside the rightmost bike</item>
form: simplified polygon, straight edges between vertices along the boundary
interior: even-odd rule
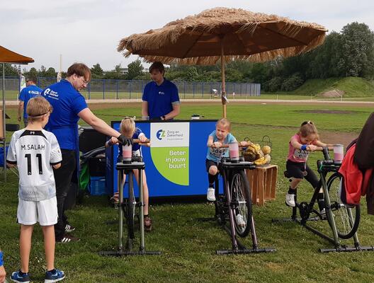
[[[358,168],[353,161],[355,150],[356,144],[353,144],[346,152],[339,169],[339,173],[344,180],[341,190],[345,190],[346,204],[360,204],[361,195],[366,195],[370,177],[373,173],[373,168],[367,169],[364,173]],[[344,195],[344,192],[341,195]],[[344,200],[342,201],[344,202]]]

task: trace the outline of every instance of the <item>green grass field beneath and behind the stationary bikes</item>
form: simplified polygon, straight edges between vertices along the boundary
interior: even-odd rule
[[[92,109],[110,122],[125,115],[139,115],[140,103],[110,109],[92,105]],[[346,110],[346,113],[317,114],[315,110]],[[331,248],[324,239],[297,224],[271,222],[272,218],[291,214],[291,209],[284,204],[288,180],[282,175],[288,140],[297,132],[298,125],[304,120],[313,120],[322,140],[329,141],[332,136],[357,135],[370,112],[370,106],[351,105],[230,103],[227,106],[227,117],[233,122],[232,133],[237,139],[261,140],[263,135],[268,135],[273,143],[272,163],[279,166],[276,200],[254,207],[254,219],[260,247],[274,247],[276,253],[215,255],[215,250],[230,248],[231,243],[227,233],[215,222],[196,220],[214,213],[212,204],[200,202],[152,205],[154,231],[146,233],[146,245],[148,250],[161,250],[161,256],[103,258],[98,251],[111,250],[117,243],[117,226],[106,221],[117,219],[118,211],[108,206],[106,197],[86,197],[84,204],[68,211],[71,223],[77,226],[74,236],[81,241],[57,244],[56,266],[66,272],[64,282],[373,282],[373,252],[322,254],[319,248]],[[7,113],[12,117],[10,122],[15,122],[16,108],[8,108]],[[183,103],[179,118],[188,119],[194,113],[217,119],[222,107]],[[317,158],[321,158],[317,153],[310,156],[309,163],[314,169]],[[11,173],[6,184],[0,178],[0,246],[10,273],[20,266],[16,224],[18,180]],[[203,187],[206,183],[207,180],[201,180]],[[155,186],[149,184],[150,190]],[[307,183],[302,183],[298,199],[309,199],[311,192]],[[369,246],[374,244],[374,216],[366,214],[364,199],[362,205],[358,237],[363,246]],[[327,221],[312,226],[330,233]],[[342,243],[351,245],[347,240]],[[244,244],[251,246],[250,239],[246,238]],[[44,271],[42,233],[36,226],[30,256],[33,282],[41,282]]]

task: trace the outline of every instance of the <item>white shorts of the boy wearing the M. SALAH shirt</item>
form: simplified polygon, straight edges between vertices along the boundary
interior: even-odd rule
[[[18,198],[17,219],[19,224],[33,225],[39,222],[40,226],[50,226],[57,223],[57,199],[40,202],[27,202]]]

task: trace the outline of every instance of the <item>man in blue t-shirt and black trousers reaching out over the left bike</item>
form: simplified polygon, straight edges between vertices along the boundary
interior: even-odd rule
[[[109,127],[89,110],[86,100],[79,93],[86,88],[91,79],[91,70],[85,64],[74,63],[67,69],[67,78],[48,86],[42,95],[52,105],[54,111],[45,129],[55,134],[62,151],[61,169],[54,171],[58,221],[55,225],[56,241],[69,243],[79,238],[67,235],[75,230],[65,215],[65,202],[69,192],[72,175],[77,168],[79,157],[78,121],[81,118],[96,131],[109,137],[117,137],[122,144],[131,144],[132,139]]]

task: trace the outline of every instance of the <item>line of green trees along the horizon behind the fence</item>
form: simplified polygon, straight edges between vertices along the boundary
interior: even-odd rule
[[[299,56],[277,58],[269,62],[232,61],[226,65],[229,82],[261,83],[263,91],[293,91],[307,79],[359,76],[374,79],[374,33],[365,23],[349,23],[340,33],[327,35],[324,44]],[[140,59],[128,64],[127,72],[120,65],[103,71],[100,64],[91,67],[93,79],[149,80]],[[1,74],[1,71],[0,71]],[[31,68],[26,75],[56,76],[53,68]],[[6,76],[17,76],[16,66],[6,65]],[[64,75],[64,74],[63,74]],[[172,81],[221,81],[220,63],[213,66],[171,64],[166,78]]]

